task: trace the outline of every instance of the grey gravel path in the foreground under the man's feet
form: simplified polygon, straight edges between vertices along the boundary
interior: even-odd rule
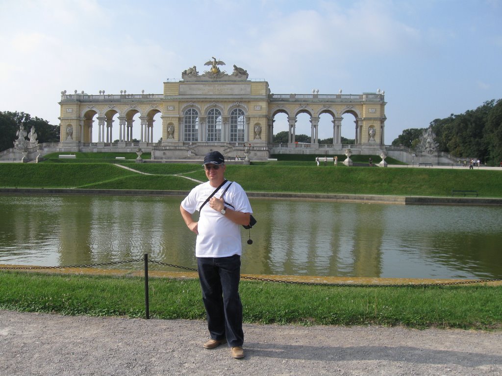
[[[244,324],[244,359],[205,321],[0,310],[0,375],[502,375],[502,332]]]

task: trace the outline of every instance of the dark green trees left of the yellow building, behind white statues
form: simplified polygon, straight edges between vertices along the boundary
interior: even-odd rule
[[[0,111],[0,151],[10,149],[14,146],[16,133],[21,124],[24,124],[26,133],[32,126],[37,132],[39,143],[59,142],[59,125],[49,124],[47,120],[39,117],[31,117],[24,112]]]

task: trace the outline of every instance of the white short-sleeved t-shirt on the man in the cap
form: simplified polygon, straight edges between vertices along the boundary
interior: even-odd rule
[[[223,191],[230,184],[227,181],[213,197],[220,198]],[[181,206],[188,213],[193,214],[214,192],[209,181],[197,185],[181,202]],[[232,182],[224,196],[226,205],[232,210],[242,213],[253,213],[251,204],[242,187]],[[233,206],[233,207],[232,207]],[[242,254],[242,241],[240,238],[240,225],[230,221],[220,212],[215,211],[206,203],[199,214],[199,235],[195,243],[196,257],[228,257]]]

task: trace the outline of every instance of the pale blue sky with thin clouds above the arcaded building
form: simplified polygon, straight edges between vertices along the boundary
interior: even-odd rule
[[[0,111],[58,124],[62,90],[161,94],[215,56],[274,94],[385,90],[390,144],[502,98],[501,25],[502,0],[0,0]],[[307,118],[296,133],[310,135]]]

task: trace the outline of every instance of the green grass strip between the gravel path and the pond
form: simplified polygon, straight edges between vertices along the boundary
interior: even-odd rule
[[[245,322],[502,327],[502,286],[330,287],[243,280],[239,291]],[[0,270],[0,309],[144,317],[144,294],[140,277]],[[150,278],[149,300],[154,318],[205,318],[197,279]]]

